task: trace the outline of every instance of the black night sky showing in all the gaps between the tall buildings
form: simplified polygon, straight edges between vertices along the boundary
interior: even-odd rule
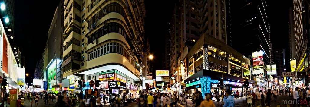
[[[14,41],[24,48],[26,60],[26,82],[31,83],[36,62],[41,58],[47,42],[53,15],[59,0],[24,1],[15,0],[15,35]],[[267,1],[267,15],[271,27],[271,40],[274,48],[284,48],[287,63],[289,60],[288,6],[277,1]],[[171,20],[174,0],[145,0],[146,15],[145,35],[149,38],[153,70],[162,69],[162,53],[164,52],[165,25]],[[276,7],[276,9],[275,9]],[[283,43],[285,43],[283,45]],[[287,67],[289,68],[289,67]]]

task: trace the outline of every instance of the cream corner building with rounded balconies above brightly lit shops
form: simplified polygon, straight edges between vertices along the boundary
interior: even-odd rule
[[[140,81],[146,56],[144,0],[64,2],[63,77],[70,78],[69,87],[79,79],[126,85]],[[122,92],[124,87],[118,88]]]

